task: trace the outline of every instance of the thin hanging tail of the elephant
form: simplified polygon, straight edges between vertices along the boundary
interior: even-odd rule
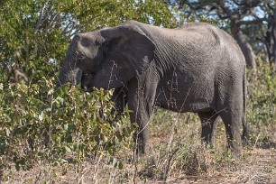
[[[246,145],[249,139],[248,133],[248,124],[246,121],[246,95],[247,95],[247,87],[246,87],[246,66],[244,66],[244,75],[243,75],[243,143]]]

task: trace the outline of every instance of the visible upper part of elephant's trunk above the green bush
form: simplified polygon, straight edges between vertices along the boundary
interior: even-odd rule
[[[82,71],[76,67],[75,61],[66,57],[63,66],[60,69],[60,75],[57,82],[57,87],[69,82],[71,86],[77,86],[81,80]]]

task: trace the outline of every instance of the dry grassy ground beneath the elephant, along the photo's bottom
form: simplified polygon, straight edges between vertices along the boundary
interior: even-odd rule
[[[214,148],[199,140],[200,124],[192,114],[168,111],[152,117],[151,151],[133,160],[131,149],[119,150],[115,159],[124,163],[115,168],[107,158],[87,159],[83,175],[73,164],[49,166],[38,163],[29,171],[5,171],[6,183],[276,183],[276,125],[259,136],[244,156],[233,159],[225,150],[225,130],[218,127]],[[162,122],[161,122],[162,121]],[[274,131],[274,132],[273,132]]]

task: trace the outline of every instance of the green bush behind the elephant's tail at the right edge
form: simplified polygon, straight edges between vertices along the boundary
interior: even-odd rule
[[[267,144],[265,140],[270,140],[271,128],[276,126],[276,75],[275,67],[269,63],[259,59],[258,65],[254,74],[248,70],[246,113],[251,141],[255,145],[262,145]]]

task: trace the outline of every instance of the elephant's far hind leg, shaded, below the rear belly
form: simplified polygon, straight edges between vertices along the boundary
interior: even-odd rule
[[[218,123],[215,111],[198,113],[201,120],[201,138],[207,144],[214,145],[216,142],[216,127]]]

